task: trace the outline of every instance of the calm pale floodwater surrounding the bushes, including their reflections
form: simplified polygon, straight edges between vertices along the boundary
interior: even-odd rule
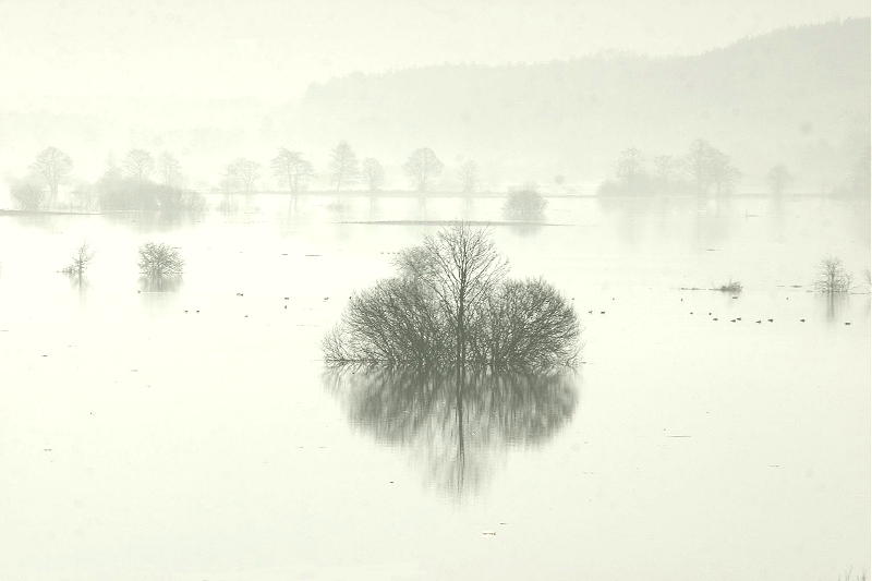
[[[868,204],[550,198],[491,229],[572,299],[581,363],[458,388],[328,370],[319,343],[431,222],[501,201],[237,202],[0,216],[0,578],[869,570],[870,296],[810,292],[825,255],[868,288]],[[85,240],[76,285],[57,270]],[[141,291],[148,241],[182,249],[178,289]]]

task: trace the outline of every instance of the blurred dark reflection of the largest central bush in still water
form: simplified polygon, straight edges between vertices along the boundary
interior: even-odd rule
[[[475,492],[509,446],[548,441],[576,411],[577,377],[548,374],[331,368],[325,387],[349,422],[377,441],[410,448],[426,480],[455,496]]]

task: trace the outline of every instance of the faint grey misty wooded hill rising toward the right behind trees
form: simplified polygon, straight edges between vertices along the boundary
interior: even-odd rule
[[[491,183],[594,182],[618,153],[682,154],[703,137],[753,189],[777,162],[806,189],[837,183],[869,140],[869,20],[777,31],[700,56],[446,64],[314,85],[294,133],[401,162],[431,146]]]

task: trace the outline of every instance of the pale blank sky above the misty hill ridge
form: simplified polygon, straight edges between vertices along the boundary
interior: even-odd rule
[[[697,53],[869,13],[868,0],[0,0],[0,95],[288,98],[354,71]]]

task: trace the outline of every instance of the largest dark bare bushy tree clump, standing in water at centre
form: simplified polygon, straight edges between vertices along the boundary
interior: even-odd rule
[[[325,338],[327,361],[540,368],[574,360],[571,305],[544,280],[506,280],[486,231],[444,229],[401,252],[397,267],[351,298]]]

